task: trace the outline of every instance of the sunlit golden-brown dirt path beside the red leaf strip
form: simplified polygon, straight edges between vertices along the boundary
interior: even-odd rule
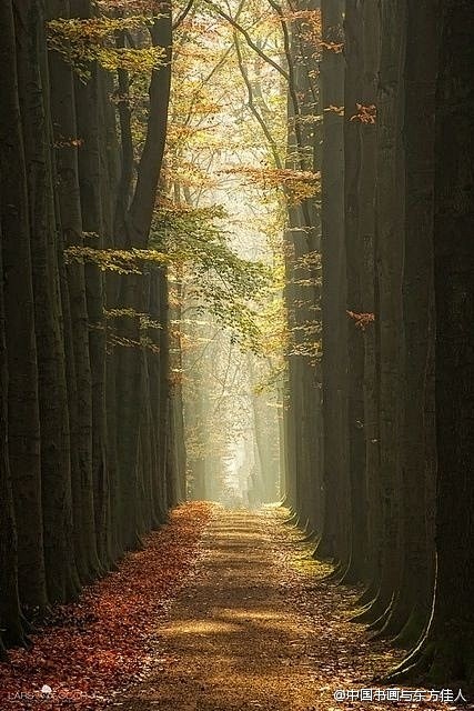
[[[218,510],[198,572],[152,641],[145,679],[109,708],[124,711],[332,711],[336,689],[371,684],[394,661],[347,622],[355,592],[319,582],[301,534],[272,510]],[[359,709],[435,709],[372,702]],[[446,709],[446,705],[444,707]]]

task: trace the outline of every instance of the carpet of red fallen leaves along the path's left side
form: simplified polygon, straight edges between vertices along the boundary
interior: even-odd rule
[[[212,507],[188,503],[174,510],[170,523],[145,539],[145,549],[130,553],[103,580],[87,588],[81,600],[58,605],[49,627],[33,635],[30,651],[12,650],[0,664],[0,705],[42,711],[98,711],[138,678],[147,664],[147,641],[157,618],[192,573],[199,540]],[[51,687],[53,701],[41,697]],[[23,694],[23,698],[21,698]]]

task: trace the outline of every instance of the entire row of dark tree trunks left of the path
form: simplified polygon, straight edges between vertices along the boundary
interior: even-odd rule
[[[144,148],[127,174],[117,233],[127,156],[114,79],[97,62],[78,77],[47,42],[48,20],[93,21],[95,9],[89,0],[1,4],[2,658],[28,643],[30,620],[75,599],[184,494],[183,453],[171,468],[167,273],[108,274],[68,256],[148,247],[171,71],[171,7],[159,6],[151,43],[167,61],[151,76]],[[108,318],[127,307],[131,316]],[[118,329],[127,318],[130,342]]]

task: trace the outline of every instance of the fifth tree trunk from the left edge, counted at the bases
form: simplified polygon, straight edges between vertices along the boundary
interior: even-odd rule
[[[94,11],[89,0],[71,0],[71,16],[81,21],[93,21]],[[105,86],[103,71],[97,61],[89,66],[90,77],[84,82],[75,76],[73,80],[74,114],[77,122],[78,140],[78,183],[80,191],[80,220],[83,232],[80,234],[80,244],[91,249],[103,249],[104,221],[103,221],[103,153],[108,151],[108,137],[101,117],[101,103],[104,100]],[[111,199],[111,197],[109,198]],[[89,508],[92,497],[93,518],[85,514],[89,529],[93,531],[95,542],[91,544],[92,561],[98,565],[108,568],[110,564],[110,550],[108,542],[109,511],[109,469],[107,461],[107,395],[105,395],[105,357],[107,331],[104,323],[104,297],[103,276],[99,267],[88,263],[83,267],[83,289],[81,296],[81,310],[85,307],[88,326],[88,357],[90,361],[90,384],[83,382],[84,401],[82,405],[83,432],[87,427],[92,428],[89,434],[88,460],[83,465],[87,470],[82,473],[84,505]],[[81,284],[82,286],[82,284]],[[85,303],[82,300],[85,299]],[[78,336],[79,337],[79,336]],[[85,354],[84,354],[85,357]],[[87,375],[88,373],[84,373]],[[97,554],[95,554],[97,551]]]

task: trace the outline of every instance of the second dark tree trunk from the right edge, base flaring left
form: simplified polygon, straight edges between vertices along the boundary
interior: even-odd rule
[[[405,57],[405,243],[403,321],[405,333],[404,425],[402,430],[403,570],[399,594],[383,631],[400,632],[409,645],[427,623],[434,585],[433,420],[426,389],[433,349],[433,173],[436,17],[426,0],[407,3]],[[430,520],[431,519],[431,520]]]

